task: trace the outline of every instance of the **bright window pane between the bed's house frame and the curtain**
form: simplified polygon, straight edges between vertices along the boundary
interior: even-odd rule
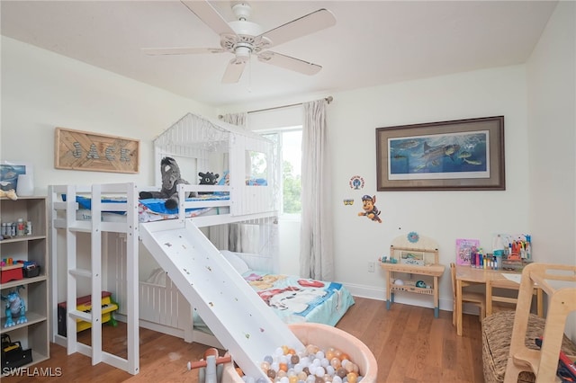
[[[302,127],[268,130],[262,136],[276,143],[280,179],[280,214],[294,218],[302,211]]]

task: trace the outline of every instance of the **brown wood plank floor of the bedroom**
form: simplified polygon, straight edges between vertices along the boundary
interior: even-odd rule
[[[440,311],[434,317],[431,308],[393,304],[386,310],[380,300],[355,298],[337,327],[353,334],[372,350],[378,361],[377,383],[480,383],[482,377],[482,337],[478,316],[464,315],[464,336],[457,336],[452,325],[452,312]],[[103,343],[117,355],[125,357],[122,331],[104,326]],[[116,333],[116,334],[114,334]],[[89,330],[83,333],[89,335]],[[124,333],[125,334],[125,333]],[[51,344],[50,359],[34,368],[61,371],[61,381],[90,382],[190,382],[197,383],[197,372],[188,371],[188,361],[202,359],[206,346],[185,343],[170,335],[140,329],[140,372],[132,376],[107,364],[91,365],[85,355],[67,356],[66,349]],[[122,355],[122,352],[124,355]],[[44,370],[45,371],[45,370]],[[36,370],[40,374],[39,370]],[[4,377],[3,383],[47,382],[49,377]]]

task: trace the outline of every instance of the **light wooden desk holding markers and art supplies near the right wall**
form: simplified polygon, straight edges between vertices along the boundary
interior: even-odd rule
[[[456,266],[456,334],[462,335],[462,288],[473,284],[486,286],[486,316],[492,313],[492,288],[520,289],[520,284],[510,281],[503,274],[517,274],[504,270],[476,269],[471,266]],[[538,316],[544,316],[544,297],[542,289],[536,289],[536,310]]]

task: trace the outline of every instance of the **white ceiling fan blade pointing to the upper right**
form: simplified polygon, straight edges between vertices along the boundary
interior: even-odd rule
[[[275,47],[276,45],[298,39],[299,37],[315,31],[329,28],[334,24],[336,24],[334,14],[332,14],[328,9],[322,8],[316,12],[306,14],[299,19],[295,19],[292,22],[287,22],[273,30],[266,31],[260,36],[265,36],[272,40],[270,46]]]

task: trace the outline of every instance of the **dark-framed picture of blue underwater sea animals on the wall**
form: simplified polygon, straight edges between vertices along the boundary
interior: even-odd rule
[[[378,191],[503,191],[504,116],[376,129]]]

